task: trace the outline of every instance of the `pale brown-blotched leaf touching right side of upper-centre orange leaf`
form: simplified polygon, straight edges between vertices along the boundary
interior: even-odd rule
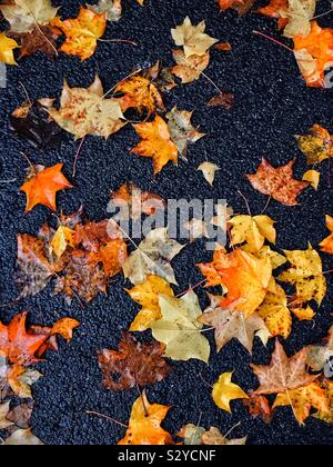
[[[176,106],[167,113],[171,139],[178,147],[179,153],[184,160],[188,160],[186,156],[189,145],[193,145],[205,136],[204,133],[200,133],[198,128],[192,126],[192,116],[193,112],[178,110]]]

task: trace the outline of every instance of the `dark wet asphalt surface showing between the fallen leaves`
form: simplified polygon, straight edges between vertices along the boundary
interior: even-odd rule
[[[54,1],[65,4],[62,14],[75,16],[83,1]],[[94,57],[84,63],[60,53],[56,60],[36,54],[21,60],[20,67],[8,67],[8,87],[0,91],[0,179],[16,179],[0,185],[0,241],[1,241],[1,304],[16,299],[18,290],[13,280],[17,235],[37,234],[44,221],[52,221],[51,212],[43,207],[24,216],[24,196],[19,193],[26,176],[27,163],[20,151],[36,163],[52,166],[65,163],[64,172],[75,189],[61,192],[58,206],[73,212],[84,206],[89,218],[107,217],[110,190],[124,181],[133,181],[163,198],[225,198],[236,212],[246,212],[241,190],[249,199],[253,213],[260,213],[266,198],[255,192],[245,173],[254,172],[265,155],[274,165],[297,158],[296,175],[307,168],[293,135],[307,133],[313,123],[332,127],[332,90],[311,89],[304,85],[295,60],[289,51],[252,33],[253,30],[279,38],[274,20],[249,13],[239,19],[232,11],[220,13],[214,0],[148,0],[140,8],[134,0],[123,1],[124,14],[119,23],[109,23],[105,38],[132,39],[139,47],[100,43]],[[319,12],[330,10],[329,1],[322,1]],[[230,41],[231,52],[212,51],[208,74],[223,90],[235,93],[236,105],[230,111],[205,106],[215,95],[204,78],[190,86],[179,86],[167,96],[168,109],[195,110],[194,122],[208,137],[190,148],[189,162],[179,167],[168,166],[157,179],[152,176],[149,160],[130,155],[138,138],[128,127],[109,141],[89,137],[78,165],[78,175],[71,178],[78,143],[64,135],[61,143],[37,150],[14,137],[9,130],[10,113],[22,103],[24,83],[30,98],[59,97],[63,79],[71,86],[88,87],[98,72],[105,89],[111,88],[131,70],[148,67],[157,60],[172,64],[173,42],[170,29],[190,14],[193,22],[203,19],[208,32],[222,41]],[[332,26],[333,16],[320,20]],[[285,41],[287,43],[287,40]],[[331,100],[330,100],[331,99]],[[196,167],[208,158],[222,170],[216,176],[214,189],[203,180]],[[322,182],[317,192],[309,189],[301,196],[301,205],[290,208],[271,202],[268,215],[276,220],[278,245],[283,249],[305,249],[309,241],[317,244],[326,236],[324,215],[332,210],[332,177],[329,165],[321,166]],[[324,269],[332,269],[332,257],[323,255]],[[193,244],[174,261],[179,288],[183,291],[202,277],[196,262],[211,259],[204,242]],[[292,337],[285,342],[292,355],[304,345],[325,337],[332,318],[332,277],[323,306],[313,322],[295,322]],[[49,352],[39,365],[44,377],[33,386],[36,410],[32,417],[33,433],[46,444],[100,445],[114,444],[124,429],[107,420],[91,417],[87,410],[95,410],[127,423],[137,390],[111,393],[102,387],[97,352],[102,348],[117,348],[122,329],[128,329],[138,307],[123,290],[129,286],[119,276],[109,288],[108,296],[99,296],[85,310],[78,302],[68,306],[62,297],[53,297],[52,287],[18,306],[0,309],[0,318],[8,322],[17,312],[30,311],[33,324],[52,324],[59,317],[71,316],[81,321],[72,341],[61,341],[58,354]],[[199,290],[202,305],[206,305],[205,291]],[[210,336],[213,345],[213,336]],[[268,364],[273,342],[268,349],[256,341],[254,361]],[[209,428],[216,426],[223,433],[241,423],[235,437],[249,436],[250,445],[331,445],[332,426],[310,418],[304,428],[293,419],[290,408],[279,409],[271,425],[251,419],[241,401],[233,405],[232,416],[218,409],[211,390],[199,377],[213,384],[219,375],[234,370],[234,380],[244,390],[254,389],[256,379],[249,369],[250,357],[236,342],[228,345],[219,355],[213,351],[210,366],[198,361],[173,362],[174,371],[164,381],[148,388],[151,401],[171,405],[172,410],[164,427],[176,433],[183,425],[196,424]]]

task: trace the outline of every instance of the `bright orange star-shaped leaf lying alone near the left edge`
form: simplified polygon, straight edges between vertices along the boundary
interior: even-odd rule
[[[21,188],[21,191],[27,195],[26,213],[38,205],[46,206],[52,211],[57,210],[57,192],[72,188],[72,185],[62,175],[62,168],[63,163],[48,168],[34,166],[32,177]]]

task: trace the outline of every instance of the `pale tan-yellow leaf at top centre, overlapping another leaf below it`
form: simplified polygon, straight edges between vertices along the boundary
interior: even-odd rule
[[[205,32],[205,21],[193,26],[190,18],[186,17],[181,26],[171,30],[172,38],[176,46],[183,46],[185,57],[205,56],[208,50],[216,42],[218,39],[211,38]]]

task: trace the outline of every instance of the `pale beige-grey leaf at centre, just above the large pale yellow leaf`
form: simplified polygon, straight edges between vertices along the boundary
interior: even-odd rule
[[[134,285],[144,284],[148,276],[159,276],[176,284],[170,261],[184,248],[168,236],[168,229],[152,230],[123,265],[124,276]]]

